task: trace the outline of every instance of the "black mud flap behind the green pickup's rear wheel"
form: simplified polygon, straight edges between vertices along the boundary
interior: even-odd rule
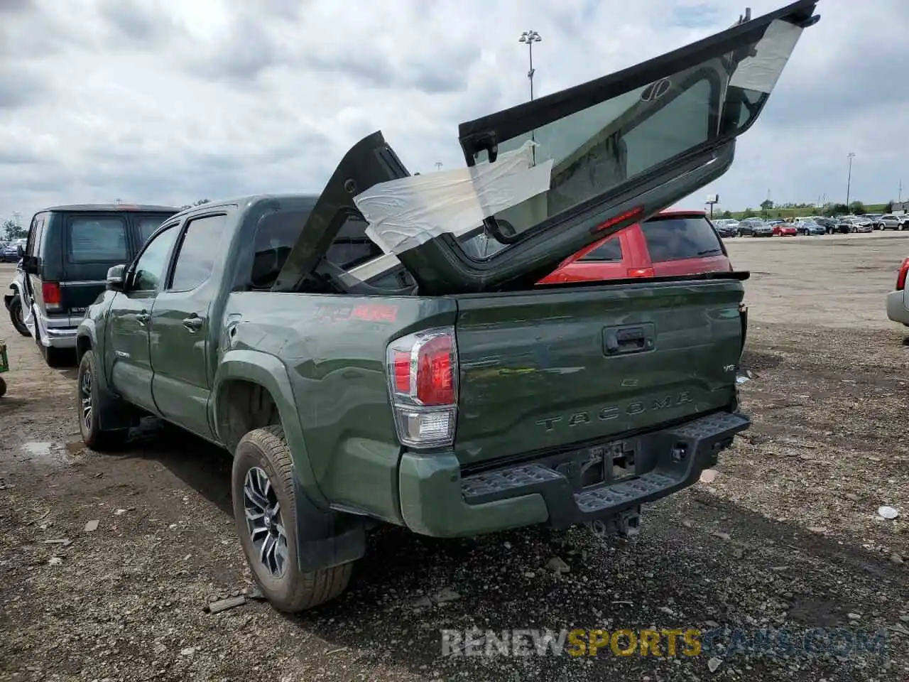
[[[341,566],[366,553],[364,518],[319,509],[295,483],[296,555],[304,573]]]

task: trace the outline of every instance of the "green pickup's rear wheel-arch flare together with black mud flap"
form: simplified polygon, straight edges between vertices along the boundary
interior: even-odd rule
[[[275,400],[281,416],[281,426],[294,461],[296,547],[300,570],[315,571],[363,557],[366,550],[365,519],[328,508],[310,466],[303,426],[297,416],[295,397],[284,364],[275,356],[254,350],[238,349],[225,353],[218,364],[212,391],[213,422],[222,443],[227,439],[218,429],[224,416],[226,388],[234,380],[248,381],[265,388]]]

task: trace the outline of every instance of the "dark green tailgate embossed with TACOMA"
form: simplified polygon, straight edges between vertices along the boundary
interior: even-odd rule
[[[731,406],[743,296],[730,278],[458,297],[462,466]]]

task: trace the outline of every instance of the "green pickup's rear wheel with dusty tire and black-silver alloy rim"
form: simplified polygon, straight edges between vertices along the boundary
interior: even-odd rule
[[[284,528],[286,557],[278,566],[275,561],[273,570],[265,566],[260,559],[260,550],[255,547],[250,524],[246,519],[247,495],[245,485],[247,474],[255,478],[251,470],[264,471],[269,488],[264,496],[271,508],[278,506],[277,516],[269,517],[267,530],[260,527],[256,532],[265,532],[263,543],[275,537],[275,547],[280,547],[280,536],[273,536],[273,528]],[[308,608],[317,607],[340,596],[350,582],[353,562],[331,568],[322,568],[304,573],[297,564],[296,549],[296,493],[294,483],[294,464],[291,461],[290,448],[285,440],[281,426],[266,426],[250,431],[240,439],[234,456],[232,476],[232,493],[234,498],[234,518],[240,544],[246,555],[246,561],[253,571],[255,582],[265,597],[279,611],[297,613]],[[255,507],[252,497],[249,505]],[[276,521],[275,521],[276,519]]]

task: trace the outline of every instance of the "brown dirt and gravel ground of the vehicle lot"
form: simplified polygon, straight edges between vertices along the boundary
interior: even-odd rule
[[[258,601],[205,613],[250,586],[227,457],[189,436],[85,450],[75,370],[44,366],[0,311],[13,366],[0,399],[0,679],[905,680],[909,346],[883,296],[909,235],[728,244],[754,272],[754,426],[713,483],[645,508],[628,540],[534,529],[438,542],[390,528],[345,597],[300,617]],[[0,266],[4,286],[11,275]],[[884,520],[880,505],[903,514]],[[548,570],[553,557],[570,572]],[[420,599],[444,588],[457,598]],[[886,646],[442,657],[440,630],[472,626],[728,628],[724,642],[822,627],[884,630]]]

